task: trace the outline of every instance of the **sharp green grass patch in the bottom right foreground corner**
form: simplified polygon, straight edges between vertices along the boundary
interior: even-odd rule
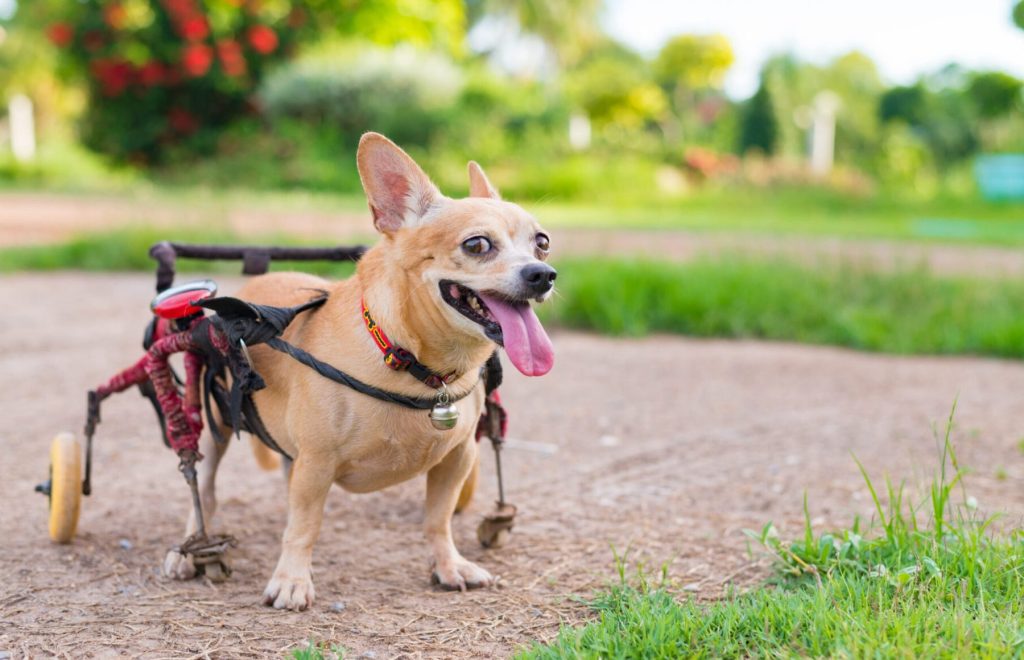
[[[997,535],[973,500],[953,495],[963,472],[944,439],[928,497],[911,502],[864,472],[877,518],[863,529],[788,545],[773,526],[751,533],[775,559],[770,584],[702,605],[642,573],[590,605],[597,619],[565,628],[526,658],[1014,658],[1024,655],[1024,535]],[[863,469],[861,469],[863,472]],[[805,496],[805,511],[807,501]]]

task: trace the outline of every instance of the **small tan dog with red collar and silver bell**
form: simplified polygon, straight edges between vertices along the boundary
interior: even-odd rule
[[[542,376],[554,363],[551,340],[530,306],[552,296],[556,277],[546,263],[550,238],[538,221],[502,201],[474,162],[468,166],[470,196],[462,200],[442,195],[383,135],[362,136],[356,163],[381,237],[358,261],[355,274],[332,283],[309,274],[270,273],[251,279],[238,297],[290,306],[326,291],[327,302],[299,315],[283,339],[381,390],[437,396],[411,373],[384,364],[368,332],[366,309],[393,344],[446,376],[459,417],[451,430],[435,429],[425,410],[381,401],[266,346],[252,347],[253,366],[267,384],[253,400],[270,435],[294,458],[288,526],[263,592],[263,602],[278,609],[304,610],[313,603],[312,551],[332,484],[365,493],[426,474],[424,531],[433,555],[432,580],[458,590],[494,584],[495,577],[466,560],[452,538],[453,514],[472,496],[476,481],[481,367],[498,346],[526,376]],[[228,437],[229,429],[218,426]],[[201,443],[207,521],[216,509],[214,481],[227,444],[209,433]],[[269,449],[253,445],[260,465],[274,465]],[[190,515],[186,533],[195,529]],[[164,570],[180,579],[196,574],[189,558],[175,551]]]

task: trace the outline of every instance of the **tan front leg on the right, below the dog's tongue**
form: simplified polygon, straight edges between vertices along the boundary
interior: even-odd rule
[[[425,532],[434,553],[433,580],[446,589],[494,584],[487,571],[466,560],[452,539],[452,515],[459,492],[476,463],[476,442],[467,438],[427,473]]]

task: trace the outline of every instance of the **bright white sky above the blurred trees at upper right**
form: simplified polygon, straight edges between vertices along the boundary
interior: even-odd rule
[[[653,55],[678,34],[725,35],[734,97],[754,93],[761,63],[792,51],[816,62],[860,50],[894,84],[951,61],[1024,78],[1024,31],[1012,0],[608,0],[603,25]]]

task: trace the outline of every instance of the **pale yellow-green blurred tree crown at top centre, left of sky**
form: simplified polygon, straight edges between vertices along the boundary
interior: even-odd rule
[[[466,0],[466,12],[471,26],[488,16],[514,20],[522,32],[544,41],[558,64],[567,68],[600,41],[603,5],[603,0]]]

